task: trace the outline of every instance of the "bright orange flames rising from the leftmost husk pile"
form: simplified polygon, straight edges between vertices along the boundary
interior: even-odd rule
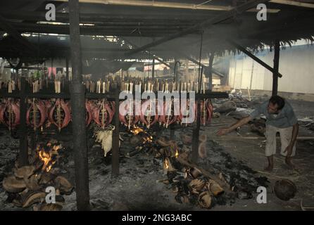
[[[58,150],[61,148],[61,146],[53,146],[51,148],[51,143],[47,143],[46,145],[49,147],[49,150],[46,150],[44,148],[38,147],[39,150],[39,159],[44,162],[44,165],[42,166],[42,171],[49,172],[52,166],[56,163],[56,156],[58,156]]]

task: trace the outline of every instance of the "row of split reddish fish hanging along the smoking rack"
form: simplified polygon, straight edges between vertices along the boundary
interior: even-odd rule
[[[122,104],[123,102],[120,102]],[[125,115],[119,113],[119,120],[126,127],[132,127],[134,124],[142,123],[147,128],[153,124],[160,124],[168,128],[170,124],[182,124],[184,117],[188,117],[189,113],[184,114],[180,110],[180,106],[173,103],[173,100],[166,104],[163,103],[163,112],[158,105],[158,101],[146,100],[139,105],[141,112],[135,113],[136,103],[133,105],[125,104]],[[115,114],[115,102],[101,100],[88,100],[85,102],[86,109],[86,125],[94,121],[99,127],[104,129],[111,124],[113,115]],[[156,110],[153,113],[153,110]],[[197,113],[196,104],[189,104],[187,101],[186,110],[190,113]],[[180,115],[175,115],[180,112]],[[213,115],[213,105],[209,99],[201,101],[201,124],[206,125],[211,122]],[[61,98],[54,100],[39,100],[37,98],[29,99],[27,102],[27,125],[33,127],[34,130],[40,129],[49,120],[59,131],[67,127],[71,121],[71,105],[70,101],[64,101]],[[8,98],[0,104],[0,122],[5,124],[8,129],[14,129],[20,124],[20,101]]]

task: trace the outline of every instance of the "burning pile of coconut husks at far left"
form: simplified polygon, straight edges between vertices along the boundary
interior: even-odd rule
[[[60,148],[58,143],[47,143],[46,150],[36,151],[35,156],[30,155],[32,165],[15,168],[12,174],[7,176],[2,182],[2,186],[8,193],[8,199],[16,206],[34,211],[57,211],[62,210],[65,202],[62,195],[69,195],[73,191],[73,185],[64,176],[59,174],[60,169],[52,167],[56,161],[47,162],[39,155],[46,153],[49,157],[56,158],[56,150]],[[37,146],[37,149],[42,145]],[[42,156],[43,157],[43,156]],[[52,198],[48,187],[53,187],[56,193],[56,203],[51,203]],[[46,192],[47,191],[47,192]]]

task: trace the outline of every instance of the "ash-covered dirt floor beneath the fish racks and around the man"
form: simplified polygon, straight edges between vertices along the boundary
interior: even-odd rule
[[[249,107],[264,101],[264,98],[253,99]],[[221,101],[214,101],[214,105]],[[299,120],[314,118],[314,102],[290,101]],[[220,127],[232,124],[239,117],[249,113],[250,108],[238,108],[229,115],[214,118],[210,125],[201,127],[201,134],[208,136],[206,144],[207,157],[199,160],[199,165],[204,169],[214,172],[223,172],[227,181],[241,186],[256,188],[260,184],[268,187],[268,203],[256,202],[256,191],[252,191],[251,198],[244,199],[239,195],[234,199],[227,199],[223,203],[215,204],[211,210],[301,210],[303,206],[314,207],[314,140],[298,141],[297,155],[294,159],[295,170],[290,170],[284,165],[284,158],[279,153],[275,156],[275,169],[273,172],[263,172],[265,166],[264,148],[265,141],[230,139],[241,136],[258,136],[252,133],[249,126],[242,127],[238,132],[232,132],[224,137],[215,136]],[[303,127],[301,122],[299,136],[314,136],[314,131]],[[178,141],[179,146],[182,134],[191,135],[191,127],[178,127],[174,134],[170,129],[156,130],[156,136],[169,137]],[[191,203],[178,203],[176,193],[169,185],[160,180],[165,179],[163,162],[153,158],[153,155],[139,153],[132,157],[125,157],[127,152],[134,148],[128,141],[130,134],[123,133],[120,148],[120,176],[111,176],[111,156],[103,158],[103,150],[94,143],[92,129],[89,130],[89,188],[92,210],[208,210]],[[15,136],[15,135],[13,135]],[[15,136],[16,137],[16,136]],[[70,127],[58,132],[41,134],[41,141],[54,138],[61,141],[65,151],[58,170],[74,184],[74,160],[72,136]],[[229,138],[229,139],[228,139]],[[0,125],[0,183],[4,177],[11,174],[18,153],[18,139],[11,136],[8,130]],[[183,146],[182,148],[190,148]],[[280,149],[280,141],[277,144]],[[298,188],[296,196],[289,201],[282,201],[272,192],[272,185],[279,179],[291,179]],[[243,184],[247,183],[247,184]],[[76,210],[75,191],[70,195],[63,195],[65,205],[63,210]],[[0,210],[32,210],[32,207],[22,209],[11,203],[11,198],[0,185]]]

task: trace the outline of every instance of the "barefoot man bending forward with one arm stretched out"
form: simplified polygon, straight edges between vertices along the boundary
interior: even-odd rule
[[[248,117],[244,117],[231,127],[220,129],[217,134],[227,134],[237,129],[237,127],[247,124],[260,114],[265,115],[267,119],[265,155],[268,158],[268,167],[265,167],[265,170],[272,171],[274,167],[273,155],[276,153],[277,132],[280,133],[282,145],[280,153],[286,157],[286,164],[290,168],[294,168],[291,158],[296,154],[296,136],[298,136],[299,133],[299,124],[291,105],[280,96],[272,96],[269,101],[258,105]]]

